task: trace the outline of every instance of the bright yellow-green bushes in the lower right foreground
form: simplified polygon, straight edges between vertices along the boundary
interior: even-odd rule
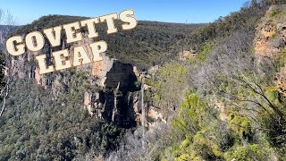
[[[229,113],[227,123],[223,123],[214,108],[190,92],[172,120],[169,135],[173,141],[168,146],[178,161],[273,159],[274,148],[262,133],[259,140],[253,140],[251,125],[247,117],[236,113]],[[162,160],[164,156],[167,154],[161,154]]]

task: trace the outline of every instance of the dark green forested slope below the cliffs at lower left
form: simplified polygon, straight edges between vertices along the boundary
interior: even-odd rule
[[[55,97],[31,80],[18,80],[0,123],[0,160],[71,160],[88,151],[106,155],[126,130],[87,114],[88,75],[71,75],[71,86]]]

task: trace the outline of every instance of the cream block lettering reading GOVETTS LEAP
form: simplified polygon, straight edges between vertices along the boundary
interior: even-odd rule
[[[114,20],[119,19],[122,21],[122,30],[134,29],[138,22],[134,18],[133,10],[126,10],[120,13],[111,13],[104,16],[91,18],[83,21],[75,21],[68,24],[44,29],[44,35],[39,31],[29,32],[25,39],[21,36],[13,36],[6,40],[7,51],[14,56],[22,55],[26,50],[36,53],[42,50],[47,41],[51,47],[60,47],[63,43],[67,44],[82,41],[84,37],[87,37],[93,43],[90,43],[88,47],[74,47],[73,52],[69,55],[68,49],[63,48],[52,52],[54,64],[46,64],[46,55],[37,55],[39,73],[47,73],[60,71],[63,69],[80,66],[82,64],[90,64],[103,60],[103,53],[107,50],[107,43],[104,40],[97,40],[99,36],[96,25],[98,23],[106,24],[107,34],[118,32],[115,27]],[[83,34],[83,28],[88,31],[88,34]],[[65,32],[62,33],[62,30]],[[66,39],[62,39],[62,34],[65,35]],[[47,39],[47,41],[46,41]],[[91,55],[88,55],[87,51],[91,51]]]

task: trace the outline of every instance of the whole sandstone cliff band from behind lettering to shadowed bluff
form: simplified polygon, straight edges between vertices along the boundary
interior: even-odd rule
[[[26,51],[20,56],[10,56],[9,72],[17,79],[32,79],[38,85],[45,89],[52,89],[53,99],[64,92],[67,92],[71,86],[71,71],[88,72],[89,86],[94,87],[86,89],[82,100],[83,107],[88,110],[88,114],[95,116],[97,119],[103,119],[106,122],[113,122],[127,127],[136,125],[138,108],[139,86],[136,81],[139,72],[131,64],[122,64],[120,61],[104,55],[104,60],[92,64],[85,64],[76,69],[63,70],[61,72],[52,72],[39,74],[38,64],[35,56],[46,54],[46,64],[53,64],[51,56],[53,51],[68,48],[70,54],[73,48],[84,46],[88,49],[89,43],[93,39],[83,38],[82,41],[67,45],[62,42],[61,47],[49,47],[46,42],[45,47],[39,52]],[[88,55],[91,51],[88,49]],[[70,57],[72,60],[72,57]],[[95,79],[96,78],[96,79]]]

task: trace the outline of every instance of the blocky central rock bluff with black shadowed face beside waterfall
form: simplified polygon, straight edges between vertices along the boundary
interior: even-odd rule
[[[133,66],[109,58],[100,64],[93,68],[93,73],[97,73],[97,83],[105,90],[86,91],[84,106],[97,119],[126,127],[135,126],[139,113],[139,86],[136,85]]]

